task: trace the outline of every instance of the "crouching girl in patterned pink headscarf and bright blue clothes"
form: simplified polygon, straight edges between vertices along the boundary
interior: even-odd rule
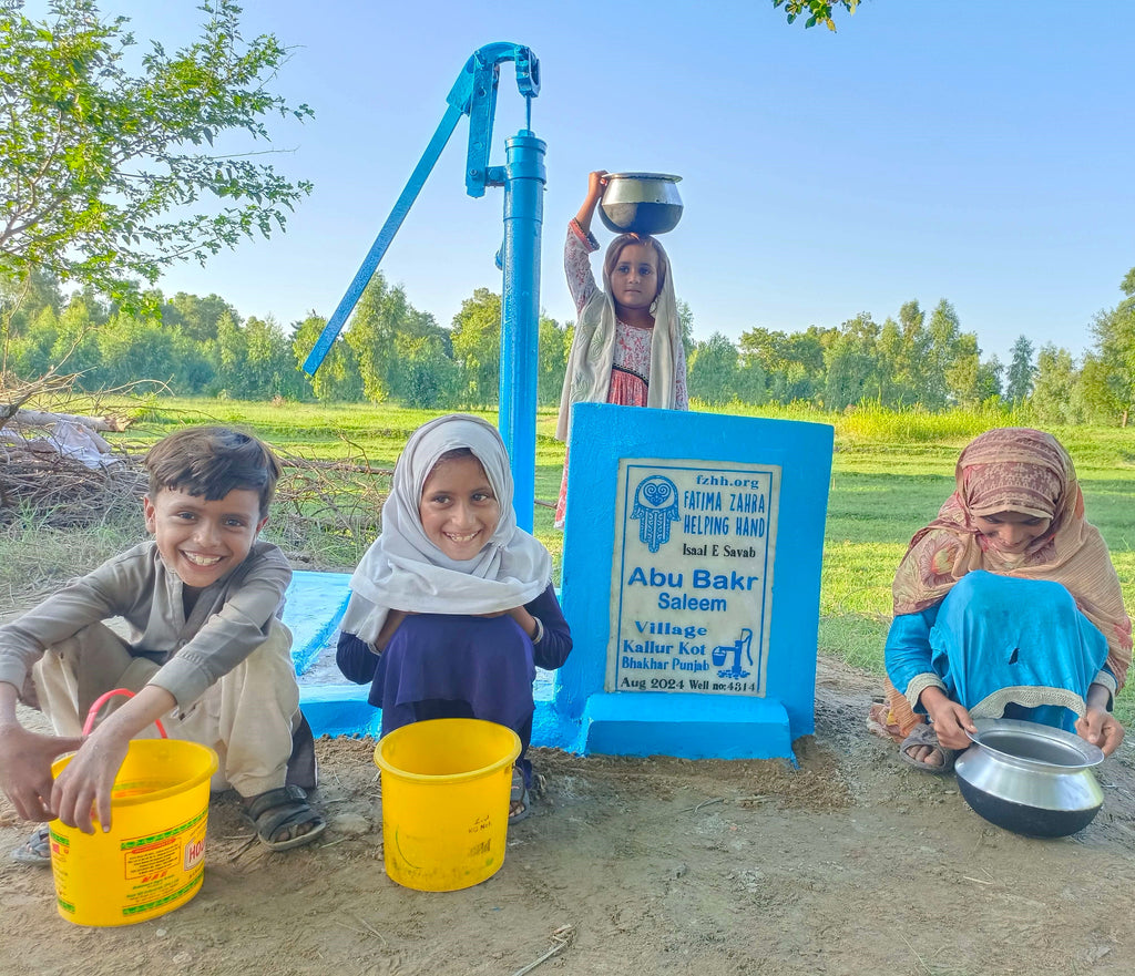
[[[1050,434],[1002,428],[961,452],[956,479],[894,578],[885,659],[900,757],[947,772],[973,718],[1001,716],[1110,754],[1124,738],[1110,709],[1132,624],[1071,458]]]

